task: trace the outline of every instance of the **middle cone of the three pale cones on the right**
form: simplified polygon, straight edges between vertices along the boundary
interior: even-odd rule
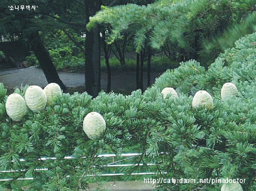
[[[207,107],[207,108],[212,108],[213,107],[213,100],[211,95],[205,91],[205,90],[199,90],[196,92],[193,101],[192,101],[192,107],[197,108],[197,107]]]

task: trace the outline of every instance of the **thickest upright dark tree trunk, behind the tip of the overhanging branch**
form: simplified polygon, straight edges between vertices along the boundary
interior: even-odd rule
[[[100,0],[86,0],[86,23],[100,10]],[[85,90],[96,97],[101,90],[100,27],[86,29],[85,39]]]

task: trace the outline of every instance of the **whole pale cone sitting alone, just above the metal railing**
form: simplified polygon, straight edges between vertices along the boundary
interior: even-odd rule
[[[95,140],[100,138],[104,133],[106,129],[106,122],[99,113],[91,112],[84,118],[83,129],[91,140]]]

